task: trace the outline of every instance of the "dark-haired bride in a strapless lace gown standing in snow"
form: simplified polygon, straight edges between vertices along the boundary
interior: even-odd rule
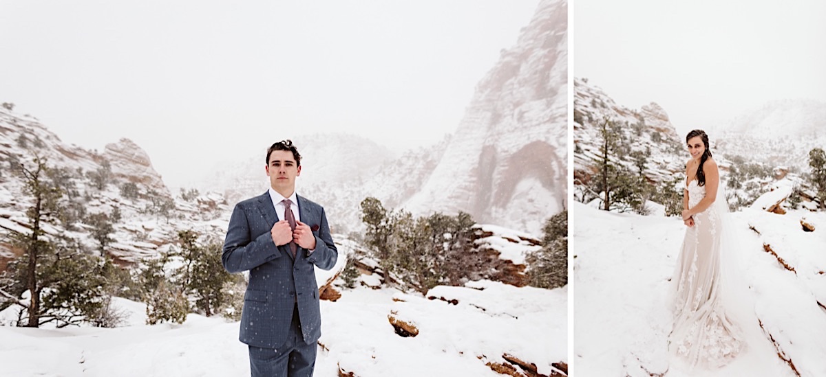
[[[686,163],[682,219],[688,228],[672,277],[675,317],[668,344],[691,365],[717,367],[743,347],[738,329],[726,316],[720,287],[721,215],[728,207],[725,198],[719,198],[722,188],[708,135],[694,130],[686,142],[691,160]]]

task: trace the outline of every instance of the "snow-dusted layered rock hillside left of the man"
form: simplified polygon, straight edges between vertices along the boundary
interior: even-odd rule
[[[61,142],[37,119],[0,108],[0,230],[23,230],[31,198],[22,193],[23,179],[14,170],[20,163],[31,168],[33,151],[58,172],[66,219],[47,227],[47,235],[69,235],[88,249],[96,249],[89,216],[103,214],[112,221],[113,240],[106,252],[118,263],[137,263],[177,242],[178,230],[221,235],[231,207],[221,195],[201,193],[189,200],[169,193],[150,157],[127,139],[107,145],[102,153]],[[108,164],[108,165],[107,165]],[[108,166],[108,168],[107,168]],[[8,169],[7,169],[8,168]],[[12,169],[13,168],[13,169]],[[106,175],[97,187],[91,175]],[[131,188],[126,189],[125,188]],[[115,212],[120,212],[117,219]],[[20,251],[0,240],[0,269]]]

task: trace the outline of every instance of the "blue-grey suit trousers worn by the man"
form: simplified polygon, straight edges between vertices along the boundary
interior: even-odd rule
[[[301,335],[298,304],[292,310],[287,341],[278,348],[249,347],[252,377],[312,377],[316,367],[316,342],[306,344]]]

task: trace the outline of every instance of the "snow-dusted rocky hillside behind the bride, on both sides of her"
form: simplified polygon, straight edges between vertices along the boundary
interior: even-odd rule
[[[814,190],[800,172],[808,171],[808,154],[812,147],[826,146],[826,139],[816,133],[819,107],[814,102],[781,101],[741,117],[730,128],[738,132],[721,133],[707,130],[714,161],[727,184],[729,204],[748,206],[786,179],[805,192],[801,200],[805,207],[816,203]],[[781,115],[778,115],[781,114]],[[759,131],[748,130],[752,122],[762,119]],[[788,132],[780,133],[772,119],[784,119]],[[642,109],[619,105],[599,86],[586,79],[574,79],[574,198],[590,201],[596,196],[592,177],[598,173],[604,138],[600,126],[608,120],[618,125],[611,133],[623,142],[610,151],[610,161],[624,168],[626,174],[638,175],[640,169],[648,184],[672,184],[685,179],[688,152],[685,136],[677,135],[665,109],[656,103]],[[798,123],[798,121],[800,121]],[[790,123],[789,123],[790,122]],[[778,135],[781,135],[778,137]],[[670,187],[670,186],[669,186]],[[663,187],[658,188],[662,191]],[[681,195],[676,188],[677,195]],[[663,204],[660,202],[659,204]],[[662,206],[649,203],[660,211]]]

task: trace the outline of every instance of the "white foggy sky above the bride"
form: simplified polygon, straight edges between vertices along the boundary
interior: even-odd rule
[[[576,0],[575,77],[657,102],[678,133],[769,101],[826,101],[826,2]]]

